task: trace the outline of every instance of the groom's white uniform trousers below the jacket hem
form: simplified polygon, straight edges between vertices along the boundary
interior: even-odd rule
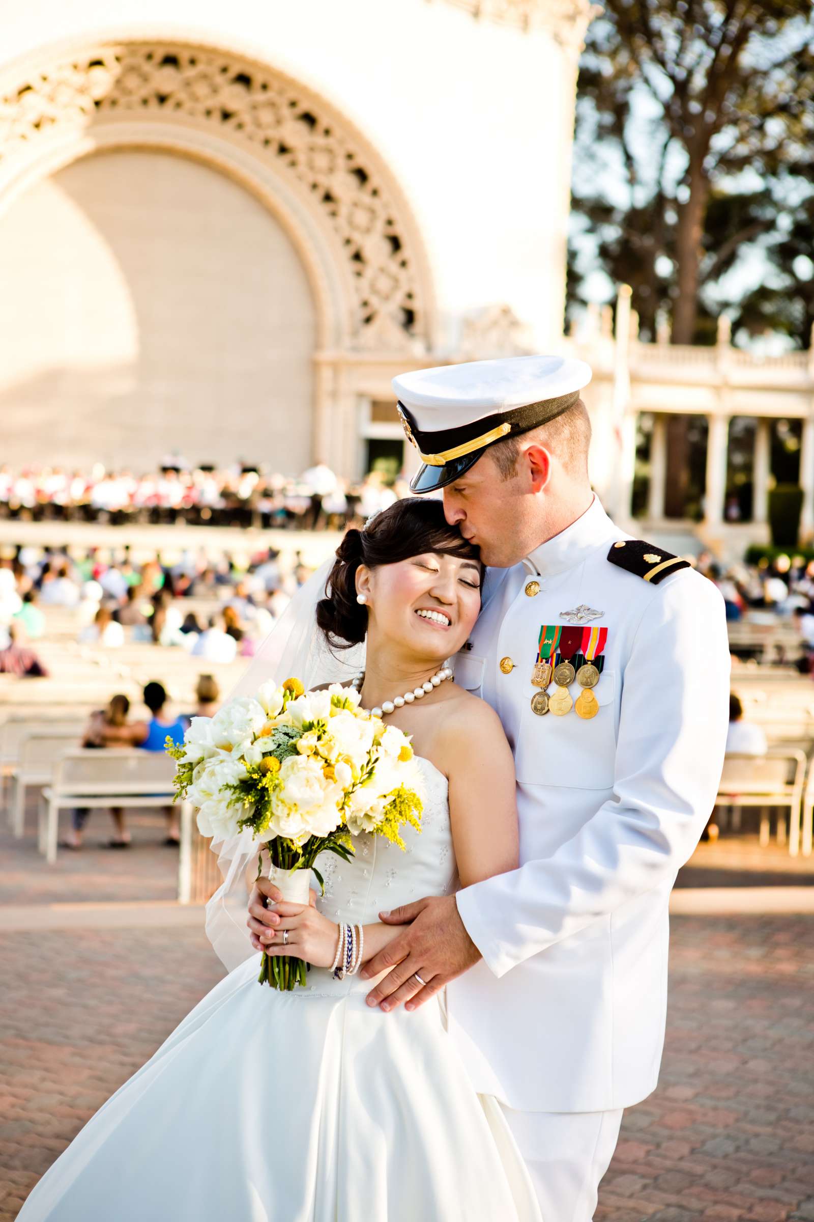
[[[515,1112],[503,1107],[528,1168],[543,1222],[591,1222],[613,1158],[622,1110]]]

